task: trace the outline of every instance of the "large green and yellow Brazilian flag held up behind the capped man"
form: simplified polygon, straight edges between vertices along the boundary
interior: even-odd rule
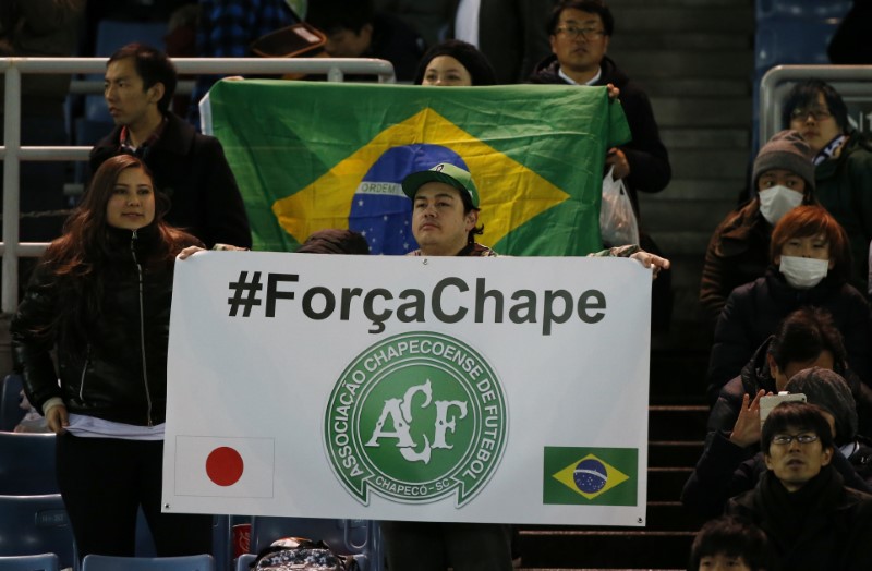
[[[630,138],[605,87],[223,81],[213,131],[245,201],[256,250],[293,251],[325,228],[374,254],[416,248],[410,172],[451,162],[481,195],[480,241],[516,256],[601,247],[606,150]]]

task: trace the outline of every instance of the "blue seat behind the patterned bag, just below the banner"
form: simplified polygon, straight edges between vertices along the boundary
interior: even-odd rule
[[[254,517],[251,547],[257,554],[281,537],[305,537],[322,540],[338,555],[352,555],[362,571],[382,569],[380,534],[371,520],[336,520],[324,518]]]

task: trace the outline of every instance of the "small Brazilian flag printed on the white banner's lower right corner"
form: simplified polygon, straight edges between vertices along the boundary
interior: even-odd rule
[[[544,503],[635,506],[635,448],[545,447]]]

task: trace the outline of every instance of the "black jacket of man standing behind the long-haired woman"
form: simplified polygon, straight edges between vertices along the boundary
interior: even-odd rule
[[[90,150],[90,169],[121,153],[117,127]],[[166,220],[198,239],[206,247],[232,244],[251,247],[249,218],[237,179],[217,138],[201,135],[172,113],[158,141],[142,153],[155,186],[172,205]]]

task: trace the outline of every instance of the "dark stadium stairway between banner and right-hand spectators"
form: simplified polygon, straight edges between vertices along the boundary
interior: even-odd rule
[[[705,248],[744,186],[752,121],[753,0],[609,0],[608,54],[646,90],[673,181],[640,194],[643,224],[673,260],[671,328],[652,338],[647,522],[521,526],[522,569],[686,569],[702,524],[679,496],[702,452],[711,329],[699,302]]]

